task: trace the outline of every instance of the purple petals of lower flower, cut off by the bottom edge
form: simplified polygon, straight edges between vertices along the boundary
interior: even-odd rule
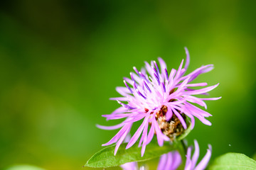
[[[187,154],[186,154],[186,165],[184,170],[203,170],[206,169],[206,166],[210,160],[211,156],[211,146],[208,145],[208,149],[206,155],[203,157],[201,162],[196,166],[196,162],[198,161],[199,157],[199,146],[198,142],[194,140],[195,143],[195,152],[191,159],[191,149],[192,147],[188,147]],[[169,152],[168,154],[161,155],[159,165],[157,170],[175,170],[178,169],[178,166],[181,165],[181,155],[177,152]]]

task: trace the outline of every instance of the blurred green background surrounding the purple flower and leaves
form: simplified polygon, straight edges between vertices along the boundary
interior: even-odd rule
[[[132,67],[161,56],[188,72],[213,71],[196,82],[220,86],[208,101],[208,127],[188,135],[201,156],[251,157],[255,141],[256,1],[2,1],[0,6],[0,169],[31,164],[82,169],[117,132],[99,130],[118,107]],[[86,168],[84,168],[86,169]]]

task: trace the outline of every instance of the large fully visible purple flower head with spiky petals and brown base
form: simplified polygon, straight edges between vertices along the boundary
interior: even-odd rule
[[[116,100],[121,107],[117,108],[110,115],[102,116],[107,118],[107,120],[121,118],[125,118],[125,120],[118,125],[110,127],[97,125],[98,128],[105,130],[121,128],[117,132],[117,135],[102,146],[116,143],[117,145],[114,150],[114,154],[116,154],[124,138],[129,134],[132,124],[142,119],[142,124],[129,140],[126,147],[126,149],[132,147],[142,135],[139,140],[139,147],[142,146],[142,156],[145,152],[146,145],[151,142],[154,134],[156,134],[159,146],[164,145],[164,141],[174,140],[176,136],[181,135],[183,130],[187,128],[186,116],[191,119],[191,128],[195,124],[194,117],[206,125],[211,125],[206,120],[208,116],[211,116],[210,113],[203,111],[191,103],[196,103],[206,108],[204,101],[218,100],[219,98],[198,98],[193,96],[206,94],[208,91],[215,89],[218,84],[203,89],[191,89],[191,87],[195,86],[207,86],[207,83],[191,84],[190,82],[196,79],[198,75],[209,72],[213,69],[213,65],[209,64],[199,67],[184,76],[190,60],[188,50],[186,48],[185,50],[185,67],[183,67],[182,60],[178,69],[171,69],[169,73],[166,63],[159,57],[160,67],[155,61],[151,61],[150,64],[145,62],[146,69],[142,68],[139,72],[134,67],[136,74],[131,72],[131,79],[124,77],[125,87],[117,87],[116,89],[122,97],[110,98],[111,100]]]

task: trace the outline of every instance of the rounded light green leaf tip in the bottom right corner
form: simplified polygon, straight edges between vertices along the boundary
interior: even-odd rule
[[[229,169],[244,169],[255,170],[256,161],[247,157],[245,154],[228,153],[215,159],[213,164],[209,166],[210,170],[229,170]]]

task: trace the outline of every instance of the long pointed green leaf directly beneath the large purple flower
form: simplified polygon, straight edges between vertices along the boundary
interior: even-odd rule
[[[116,156],[114,156],[114,147],[105,147],[96,154],[94,154],[85,164],[85,166],[94,168],[107,168],[111,166],[119,166],[127,162],[143,162],[149,159],[160,157],[161,154],[166,154],[178,148],[178,143],[170,145],[164,144],[163,147],[159,147],[156,142],[151,142],[146,145],[146,151],[144,156],[141,156],[142,147],[137,147],[138,143],[135,143],[129,149],[125,149],[127,143],[120,145]]]

